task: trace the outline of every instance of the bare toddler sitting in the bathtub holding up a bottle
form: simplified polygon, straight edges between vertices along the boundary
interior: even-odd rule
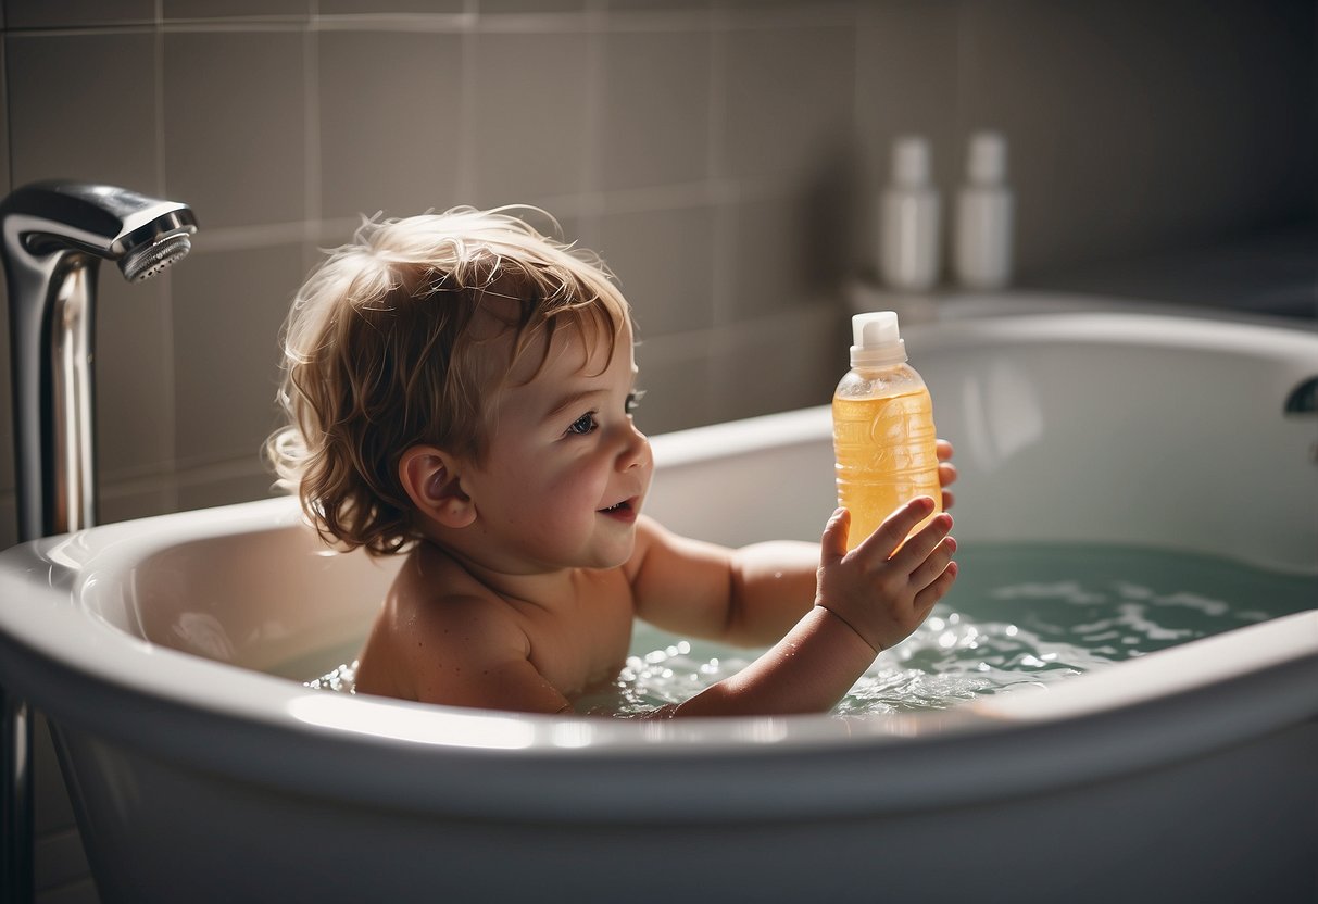
[[[283,339],[281,484],[326,540],[406,556],[361,693],[571,712],[617,677],[639,617],[775,644],[656,714],[826,712],[956,580],[949,515],[902,543],[929,498],[851,552],[842,509],[821,546],[739,550],[642,514],[627,303],[597,257],[509,208],[365,223],[298,293]],[[950,455],[940,441],[944,485]]]

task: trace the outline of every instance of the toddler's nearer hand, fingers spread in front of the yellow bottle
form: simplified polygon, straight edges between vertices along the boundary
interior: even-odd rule
[[[851,552],[846,551],[851,523],[846,509],[834,511],[824,528],[815,605],[849,625],[875,654],[919,627],[957,579],[957,563],[952,561],[957,542],[948,536],[952,515],[946,513],[898,550],[931,511],[929,497],[912,499]]]

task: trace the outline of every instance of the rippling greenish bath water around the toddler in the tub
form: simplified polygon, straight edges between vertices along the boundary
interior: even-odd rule
[[[946,709],[1318,605],[1315,575],[1157,550],[967,543],[957,561],[952,593],[915,634],[875,660],[834,712]],[[631,651],[618,679],[579,700],[579,712],[629,716],[681,702],[759,652],[639,622]],[[308,673],[318,672],[302,672]],[[352,665],[308,685],[351,692]]]

